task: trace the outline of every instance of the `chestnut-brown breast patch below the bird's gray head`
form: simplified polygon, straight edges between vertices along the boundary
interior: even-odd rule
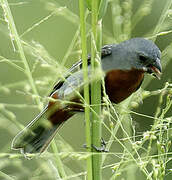
[[[116,104],[125,100],[141,86],[143,78],[143,70],[109,71],[105,76],[105,88],[109,99]]]

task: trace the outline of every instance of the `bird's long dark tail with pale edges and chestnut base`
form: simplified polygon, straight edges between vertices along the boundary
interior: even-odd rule
[[[49,111],[47,106],[12,142],[12,149],[20,149],[22,153],[42,153],[50,144],[57,130],[73,114],[61,109]]]

